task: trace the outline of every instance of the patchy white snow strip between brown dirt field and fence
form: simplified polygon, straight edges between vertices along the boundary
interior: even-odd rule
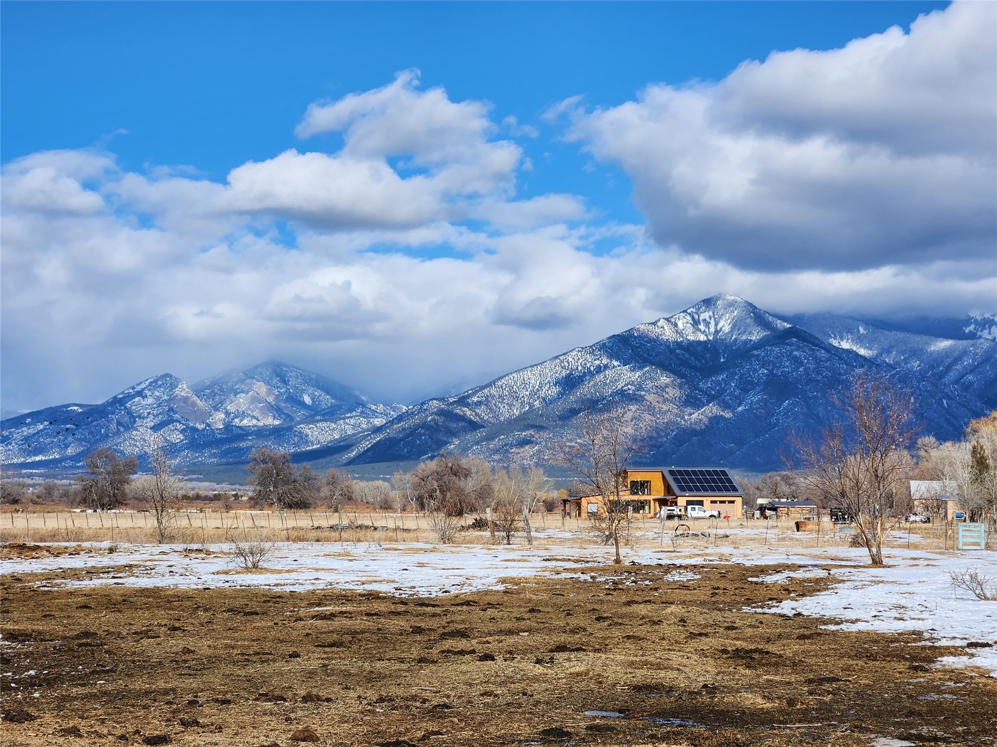
[[[608,563],[604,547],[551,544],[536,546],[451,545],[334,545],[281,543],[265,562],[266,570],[236,572],[215,546],[210,554],[183,553],[169,546],[90,546],[78,555],[38,560],[0,561],[0,574],[85,569],[87,579],[58,582],[66,586],[123,584],[140,587],[266,587],[284,591],[339,588],[364,589],[397,595],[431,597],[453,592],[502,588],[502,580],[570,574],[581,565]],[[671,548],[645,546],[624,552],[627,562],[690,566],[737,563],[749,566],[786,564],[798,570],[759,576],[760,583],[785,582],[792,577],[828,578],[839,582],[830,590],[800,597],[758,612],[831,618],[831,627],[885,632],[918,631],[926,643],[966,646],[966,656],[945,657],[948,665],[974,665],[997,675],[997,602],[975,599],[953,590],[950,571],[974,569],[997,580],[997,553],[930,553],[890,549],[885,568],[871,568],[861,548],[831,547],[794,550],[765,547]],[[116,567],[113,568],[112,567]],[[126,568],[122,568],[126,567]],[[677,571],[676,579],[694,580]],[[17,582],[14,582],[17,583]],[[514,583],[514,581],[513,581]]]

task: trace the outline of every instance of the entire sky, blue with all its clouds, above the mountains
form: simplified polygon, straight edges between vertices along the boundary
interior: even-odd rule
[[[4,407],[406,399],[721,291],[995,310],[992,4],[0,8]]]

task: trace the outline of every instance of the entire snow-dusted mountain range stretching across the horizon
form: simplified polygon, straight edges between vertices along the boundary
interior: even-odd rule
[[[156,434],[185,465],[244,462],[254,446],[296,461],[357,466],[442,450],[499,463],[549,461],[587,402],[612,400],[644,434],[638,463],[778,468],[787,436],[833,416],[829,392],[873,368],[917,394],[925,434],[957,438],[997,408],[997,343],[950,339],[831,314],[781,319],[714,296],[591,346],[411,407],[269,362],[188,386],[171,374],[101,404],[0,422],[0,459],[77,468],[98,446],[142,455]]]

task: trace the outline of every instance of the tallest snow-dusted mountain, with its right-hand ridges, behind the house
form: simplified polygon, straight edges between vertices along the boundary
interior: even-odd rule
[[[898,356],[901,347],[894,341],[891,350]],[[923,372],[915,365],[918,351],[927,359]],[[949,358],[930,352],[930,345],[916,340],[902,366],[891,364],[888,356],[867,357],[831,344],[743,299],[720,295],[412,407],[350,444],[342,459],[420,459],[446,449],[543,462],[585,402],[613,399],[630,410],[644,433],[643,463],[774,468],[782,464],[789,433],[826,422],[833,414],[828,393],[863,367],[912,384],[926,432],[953,438],[987,411],[979,394],[997,366],[997,345],[957,347]],[[962,383],[972,383],[973,390],[961,390]]]

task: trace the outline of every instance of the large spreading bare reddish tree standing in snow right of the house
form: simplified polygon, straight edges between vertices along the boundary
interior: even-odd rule
[[[882,543],[904,500],[914,434],[914,397],[878,371],[853,373],[831,395],[843,414],[825,425],[821,438],[795,436],[801,479],[825,505],[841,509],[857,527],[873,566],[881,566]]]

